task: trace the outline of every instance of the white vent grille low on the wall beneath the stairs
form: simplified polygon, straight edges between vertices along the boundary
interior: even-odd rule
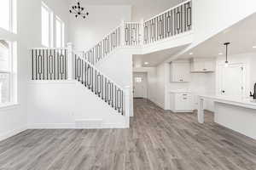
[[[75,123],[76,128],[102,128],[101,119],[77,119]]]

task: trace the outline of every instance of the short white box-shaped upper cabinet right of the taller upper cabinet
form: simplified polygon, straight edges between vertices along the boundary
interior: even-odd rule
[[[191,72],[214,72],[215,59],[213,58],[200,58],[191,59]]]

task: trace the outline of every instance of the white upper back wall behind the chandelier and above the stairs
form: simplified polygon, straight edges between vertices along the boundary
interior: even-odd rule
[[[73,4],[70,4],[70,6]],[[70,14],[70,41],[76,50],[88,50],[102,41],[122,20],[131,20],[131,6],[129,5],[97,5],[85,6],[88,17],[76,19]]]

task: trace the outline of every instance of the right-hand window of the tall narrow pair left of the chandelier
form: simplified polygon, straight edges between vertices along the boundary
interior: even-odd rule
[[[59,18],[55,17],[55,46],[56,48],[64,48],[64,22]]]

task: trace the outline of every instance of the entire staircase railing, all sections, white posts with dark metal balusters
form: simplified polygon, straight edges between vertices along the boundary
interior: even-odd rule
[[[75,80],[93,94],[94,101],[102,100],[116,114],[123,117],[124,121],[119,116],[113,117],[115,122],[125,122],[125,125],[118,127],[129,127],[132,108],[131,89],[120,86],[117,81],[103,74],[96,68],[96,64],[99,61],[103,62],[102,59],[115,53],[118,48],[141,50],[159,42],[170,42],[172,37],[191,31],[191,13],[192,1],[189,0],[150,20],[141,23],[123,22],[88,51],[76,52],[71,45],[67,48],[32,48],[32,81],[67,82]],[[61,94],[61,91],[58,94]],[[90,101],[86,104],[90,105]],[[102,105],[101,107],[103,108]],[[102,109],[102,112],[104,111],[106,108]],[[81,116],[80,113],[79,116]],[[78,122],[84,122],[84,120]]]

